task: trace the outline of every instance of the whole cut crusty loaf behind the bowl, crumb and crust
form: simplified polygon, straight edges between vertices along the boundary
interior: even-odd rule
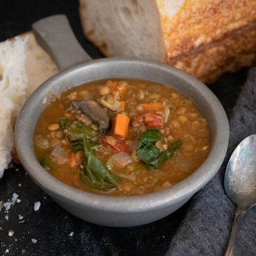
[[[209,83],[256,59],[256,0],[80,0],[106,56],[167,62]]]

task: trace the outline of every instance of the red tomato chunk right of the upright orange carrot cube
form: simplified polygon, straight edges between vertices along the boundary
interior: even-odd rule
[[[146,114],[137,116],[134,121],[143,123],[148,128],[160,128],[163,126],[163,116],[156,111],[149,111]]]

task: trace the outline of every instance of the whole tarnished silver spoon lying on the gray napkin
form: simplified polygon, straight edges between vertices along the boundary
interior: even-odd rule
[[[247,210],[256,205],[256,134],[245,138],[234,150],[226,168],[225,190],[237,205],[225,256],[234,255],[234,248]]]

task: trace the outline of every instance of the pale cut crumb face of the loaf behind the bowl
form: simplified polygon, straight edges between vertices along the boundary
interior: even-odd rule
[[[155,0],[80,0],[80,17],[87,37],[106,56],[166,58]]]

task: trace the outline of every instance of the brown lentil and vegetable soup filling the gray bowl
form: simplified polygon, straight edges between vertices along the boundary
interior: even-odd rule
[[[113,79],[83,84],[41,114],[34,149],[41,165],[75,188],[143,195],[182,181],[204,162],[207,121],[162,84]]]

